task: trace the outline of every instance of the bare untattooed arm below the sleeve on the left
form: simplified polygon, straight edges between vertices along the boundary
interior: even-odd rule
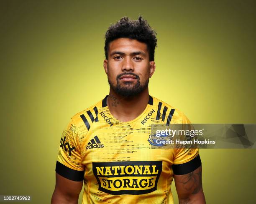
[[[56,173],[56,184],[51,204],[77,204],[83,182],[75,182]]]

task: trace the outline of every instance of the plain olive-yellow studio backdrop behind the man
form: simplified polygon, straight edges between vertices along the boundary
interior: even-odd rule
[[[50,203],[62,130],[108,94],[104,34],[125,15],[157,32],[151,95],[193,123],[255,124],[254,2],[0,0],[0,194]],[[255,155],[200,150],[207,203],[255,203]]]

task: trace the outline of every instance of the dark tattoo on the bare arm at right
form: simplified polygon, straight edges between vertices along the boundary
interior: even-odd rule
[[[202,187],[202,169],[199,169],[198,172],[191,172],[186,176],[184,175],[180,183],[183,184],[184,189],[187,191],[197,194]]]

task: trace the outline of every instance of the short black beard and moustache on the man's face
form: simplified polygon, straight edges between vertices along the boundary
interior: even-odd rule
[[[133,82],[123,82],[123,85],[120,85],[119,78],[123,75],[133,75],[136,77],[137,82],[133,84]],[[148,87],[149,78],[146,80],[145,84],[141,85],[140,77],[133,72],[124,72],[116,77],[117,85],[114,86],[113,83],[108,79],[108,83],[110,87],[122,97],[135,97],[143,92]]]

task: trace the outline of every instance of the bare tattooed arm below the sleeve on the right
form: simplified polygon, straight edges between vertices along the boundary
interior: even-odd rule
[[[174,180],[179,204],[205,204],[205,195],[202,189],[202,166],[188,174],[174,174]]]

